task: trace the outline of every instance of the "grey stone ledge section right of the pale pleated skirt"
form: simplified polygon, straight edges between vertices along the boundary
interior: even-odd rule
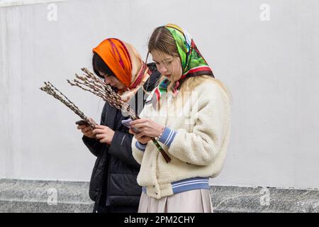
[[[319,213],[318,189],[211,187],[215,212]]]

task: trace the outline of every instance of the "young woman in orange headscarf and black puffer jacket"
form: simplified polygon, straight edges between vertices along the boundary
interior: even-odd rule
[[[121,94],[139,114],[144,94],[154,89],[160,77],[155,65],[145,65],[135,48],[116,38],[103,40],[93,49],[94,72]],[[141,187],[136,177],[140,165],[132,155],[133,135],[121,121],[127,119],[107,102],[101,123],[91,130],[78,126],[84,144],[97,157],[91,175],[89,196],[94,212],[137,212]]]

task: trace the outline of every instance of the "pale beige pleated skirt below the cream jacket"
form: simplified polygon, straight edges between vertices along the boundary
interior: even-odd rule
[[[154,199],[142,192],[138,213],[213,213],[211,194],[196,189]]]

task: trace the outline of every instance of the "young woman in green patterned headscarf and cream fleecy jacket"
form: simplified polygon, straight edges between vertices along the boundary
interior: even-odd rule
[[[141,119],[131,123],[140,131],[132,142],[141,164],[139,212],[213,212],[208,179],[220,173],[225,160],[230,95],[179,26],[156,28],[148,49],[162,81]],[[171,162],[150,141],[154,137]]]

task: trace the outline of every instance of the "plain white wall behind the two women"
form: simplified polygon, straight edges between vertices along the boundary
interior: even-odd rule
[[[270,6],[262,21],[259,6]],[[50,80],[99,120],[103,101],[70,87],[109,37],[143,57],[152,30],[191,33],[233,94],[233,128],[218,185],[318,188],[319,2],[67,0],[0,8],[0,177],[88,181],[94,157],[71,111],[41,92]],[[208,94],[209,95],[209,94]]]

